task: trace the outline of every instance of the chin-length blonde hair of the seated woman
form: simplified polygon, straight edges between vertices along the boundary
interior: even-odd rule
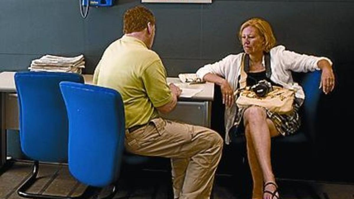
[[[269,52],[275,46],[276,40],[273,34],[272,27],[265,21],[265,19],[255,17],[247,20],[241,25],[239,32],[239,40],[242,39],[242,31],[249,26],[253,26],[258,29],[259,34],[264,39],[263,49],[265,52]]]

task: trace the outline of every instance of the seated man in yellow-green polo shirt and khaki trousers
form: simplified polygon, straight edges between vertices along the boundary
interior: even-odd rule
[[[120,92],[125,109],[125,147],[135,154],[171,158],[174,197],[208,199],[223,140],[213,130],[163,119],[181,90],[167,85],[166,70],[151,49],[155,17],[143,6],[124,14],[124,36],[103,53],[93,83]]]

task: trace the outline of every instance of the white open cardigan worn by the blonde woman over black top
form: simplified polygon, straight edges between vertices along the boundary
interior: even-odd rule
[[[243,54],[244,53],[228,55],[221,61],[215,62],[213,64],[207,64],[204,67],[199,68],[196,73],[199,78],[204,78],[204,76],[208,73],[219,75],[225,78],[235,91],[238,87],[237,80],[240,75],[240,65]],[[295,90],[295,96],[297,98],[305,99],[304,91],[299,84],[293,81],[291,71],[309,72],[319,70],[317,63],[321,59],[326,59],[332,65],[332,62],[329,58],[301,55],[296,52],[285,50],[284,46],[275,46],[270,49],[270,68],[272,69],[272,75],[270,76],[270,79],[274,83],[282,85],[284,88]],[[229,144],[230,142],[228,132],[233,126],[236,112],[236,103],[230,108],[225,108],[226,144]]]

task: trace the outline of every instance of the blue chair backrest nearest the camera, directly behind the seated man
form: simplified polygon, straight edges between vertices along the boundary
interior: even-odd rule
[[[60,83],[69,118],[69,170],[80,182],[104,187],[119,176],[125,116],[121,95],[100,86]]]

